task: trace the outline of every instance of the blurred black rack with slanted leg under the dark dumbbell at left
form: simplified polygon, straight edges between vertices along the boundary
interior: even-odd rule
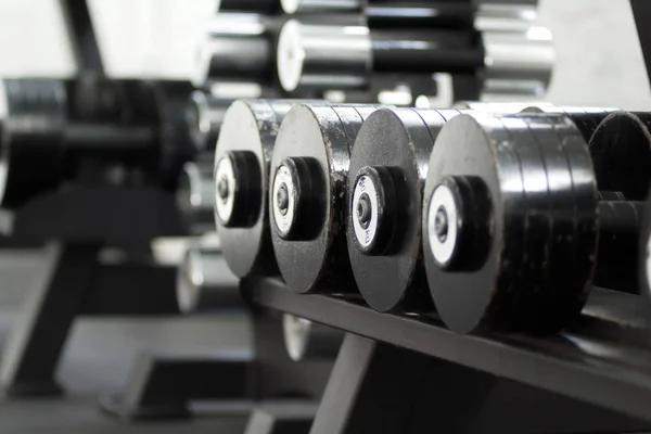
[[[12,238],[49,243],[46,278],[24,305],[2,352],[7,395],[62,393],[54,372],[78,316],[178,314],[176,267],[153,264],[149,252],[155,237],[183,233],[171,194],[67,186],[1,215],[13,221]],[[122,248],[131,260],[101,260],[106,247]]]

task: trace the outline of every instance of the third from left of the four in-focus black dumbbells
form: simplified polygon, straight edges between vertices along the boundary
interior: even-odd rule
[[[457,110],[379,110],[362,125],[347,183],[347,244],[365,301],[380,311],[432,309],[421,252],[430,152]]]

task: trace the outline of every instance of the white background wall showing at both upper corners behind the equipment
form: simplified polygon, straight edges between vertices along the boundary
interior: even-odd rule
[[[106,69],[188,77],[216,0],[90,0]],[[74,72],[58,0],[0,0],[0,75]],[[548,100],[651,110],[628,0],[540,0],[559,52]]]

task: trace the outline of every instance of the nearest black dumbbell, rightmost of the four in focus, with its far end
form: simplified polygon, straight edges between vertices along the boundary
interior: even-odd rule
[[[462,333],[549,334],[574,320],[597,263],[608,266],[598,246],[639,233],[648,125],[647,114],[622,112],[450,120],[432,151],[422,210],[444,322]],[[637,264],[635,246],[625,254]]]

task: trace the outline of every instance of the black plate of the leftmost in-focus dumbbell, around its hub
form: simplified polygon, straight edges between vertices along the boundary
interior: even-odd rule
[[[277,113],[272,104],[272,101],[265,100],[235,101],[224,116],[215,150],[215,162],[219,162],[230,151],[253,152],[258,159],[261,175],[261,207],[253,226],[227,228],[217,216],[215,218],[224,256],[238,277],[278,273],[271,248],[266,203],[269,164],[284,107],[279,107],[280,113]],[[289,106],[286,108],[289,110]]]

